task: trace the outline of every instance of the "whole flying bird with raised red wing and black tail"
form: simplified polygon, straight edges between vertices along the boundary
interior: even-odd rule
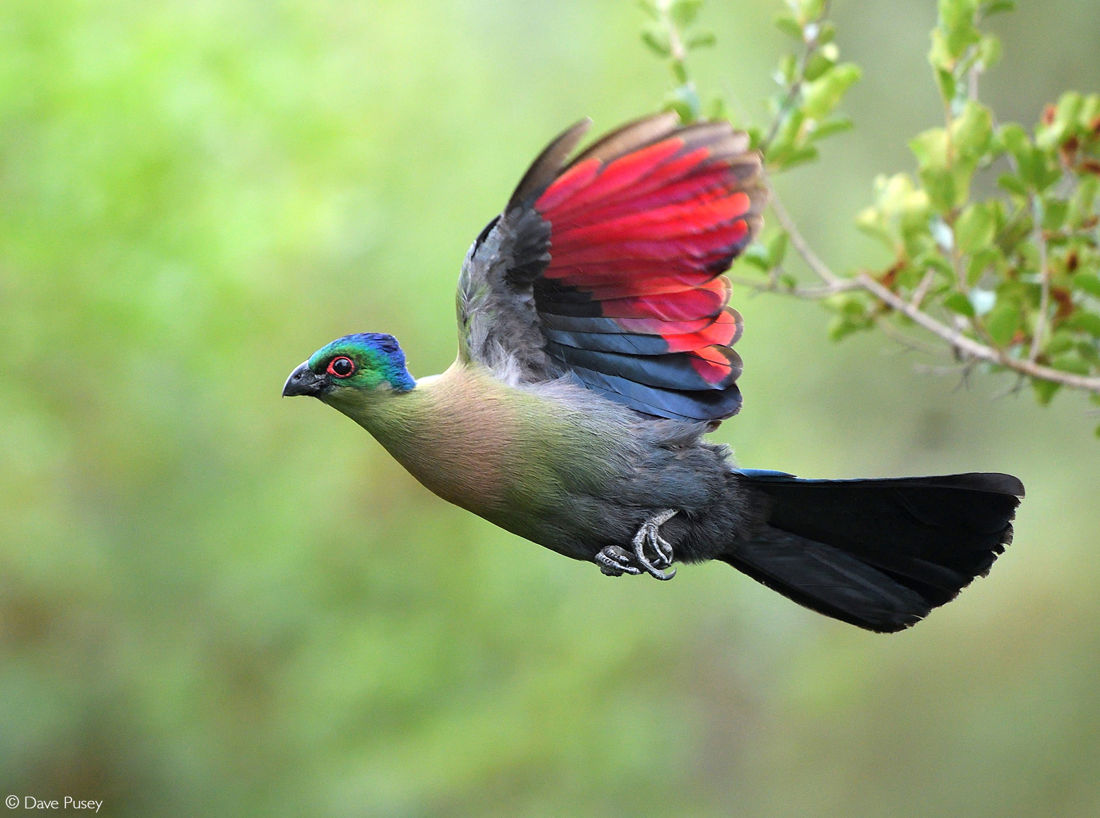
[[[344,335],[290,373],[435,494],[604,574],[721,560],[892,632],[985,575],[1024,495],[1005,474],[824,480],[738,468],[741,317],[722,274],[760,229],[759,155],[728,122],[558,136],[474,241],[459,354],[414,378],[397,340]]]

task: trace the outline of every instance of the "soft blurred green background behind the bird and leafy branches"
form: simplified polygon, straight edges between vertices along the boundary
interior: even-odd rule
[[[1100,88],[1100,5],[994,30],[999,114]],[[762,117],[771,0],[693,68]],[[858,130],[784,177],[838,268],[939,121],[932,0],[837,0]],[[1007,471],[992,575],[894,637],[723,564],[612,581],[429,495],[286,374],[351,331],[454,353],[471,239],[575,119],[660,104],[628,2],[0,7],[0,797],[111,816],[1100,814],[1100,441],[1087,402],[914,373],[735,296],[740,462]],[[14,813],[13,813],[14,814]]]

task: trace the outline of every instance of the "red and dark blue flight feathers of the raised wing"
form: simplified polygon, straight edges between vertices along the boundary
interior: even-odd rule
[[[759,168],[728,123],[675,128],[668,114],[575,159],[535,200],[550,224],[535,285],[548,353],[650,414],[736,412],[741,320],[721,274],[759,228]]]

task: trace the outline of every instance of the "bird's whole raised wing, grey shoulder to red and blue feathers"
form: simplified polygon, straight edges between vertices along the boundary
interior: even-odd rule
[[[736,413],[741,320],[721,274],[759,229],[758,155],[727,122],[664,113],[563,169],[586,129],[542,152],[470,248],[463,354],[527,382],[572,372],[658,417]]]

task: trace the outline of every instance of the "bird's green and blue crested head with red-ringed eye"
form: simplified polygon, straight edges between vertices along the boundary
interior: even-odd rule
[[[326,404],[403,393],[416,386],[397,339],[378,332],[338,338],[290,373],[283,397],[308,395]]]

